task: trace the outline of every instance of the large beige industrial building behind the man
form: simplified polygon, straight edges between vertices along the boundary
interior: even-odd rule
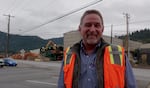
[[[103,35],[103,39],[106,42],[111,43],[111,37]],[[70,32],[64,33],[64,49],[67,46],[72,46],[74,43],[80,40],[81,40],[81,36],[79,34],[79,31],[70,31]],[[112,38],[112,44],[118,44],[118,45],[124,46],[123,40],[114,38],[114,37]],[[130,51],[134,51],[135,49],[139,48],[141,45],[142,43],[140,42],[131,41],[131,40],[129,41]]]

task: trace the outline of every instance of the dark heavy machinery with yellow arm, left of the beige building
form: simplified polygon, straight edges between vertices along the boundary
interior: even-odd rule
[[[50,58],[51,61],[62,60],[63,47],[58,46],[53,41],[49,41],[45,47],[40,49],[40,54],[44,57]]]

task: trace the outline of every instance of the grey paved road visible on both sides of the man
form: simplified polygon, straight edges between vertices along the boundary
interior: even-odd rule
[[[0,69],[1,88],[57,88],[61,62],[18,61]],[[150,69],[133,69],[138,88],[150,88]],[[148,87],[149,85],[149,87]]]

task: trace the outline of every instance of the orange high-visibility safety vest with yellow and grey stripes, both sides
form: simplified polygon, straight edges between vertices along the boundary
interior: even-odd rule
[[[72,88],[76,54],[68,47],[64,52],[64,84]],[[105,47],[104,52],[104,87],[124,88],[125,86],[125,58],[124,48],[119,45]]]

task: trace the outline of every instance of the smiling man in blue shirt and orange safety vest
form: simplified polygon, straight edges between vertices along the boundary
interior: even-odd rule
[[[124,49],[102,38],[104,22],[97,10],[87,10],[80,20],[82,40],[68,47],[58,88],[136,88]]]

